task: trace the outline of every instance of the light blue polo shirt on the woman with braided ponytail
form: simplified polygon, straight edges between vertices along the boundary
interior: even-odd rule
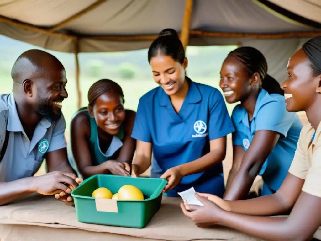
[[[284,96],[269,94],[262,89],[258,94],[251,121],[248,120],[247,111],[241,104],[235,106],[232,112],[232,121],[236,129],[232,134],[233,145],[243,146],[245,151],[257,130],[273,130],[280,133],[276,146],[259,173],[272,192],[280,188],[288,173],[303,127],[299,116],[286,110],[284,100]]]

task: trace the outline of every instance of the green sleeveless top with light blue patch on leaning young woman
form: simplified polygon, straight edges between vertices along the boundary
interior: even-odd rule
[[[90,139],[89,139],[89,149],[91,152],[91,160],[92,165],[100,165],[105,161],[108,160],[116,160],[119,156],[120,148],[123,146],[123,140],[124,140],[124,127],[123,124],[120,126],[119,132],[117,135],[113,136],[111,143],[106,151],[106,153],[102,153],[99,146],[99,138],[98,138],[98,126],[94,118],[92,118],[88,112],[87,107],[83,107],[79,109],[72,117],[71,122],[73,121],[74,117],[78,113],[85,113],[90,120]],[[70,151],[71,152],[71,151]],[[72,152],[71,152],[72,153]],[[71,160],[72,159],[72,160]],[[74,158],[69,158],[70,164],[73,165],[73,167],[76,167],[76,162],[74,161]],[[78,172],[78,168],[76,168]]]

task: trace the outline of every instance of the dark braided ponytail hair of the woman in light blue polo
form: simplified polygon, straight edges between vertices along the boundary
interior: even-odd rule
[[[280,84],[267,74],[267,62],[264,55],[253,47],[240,47],[232,50],[228,56],[235,57],[246,67],[247,75],[251,77],[254,73],[259,73],[262,81],[262,89],[269,94],[284,95]]]

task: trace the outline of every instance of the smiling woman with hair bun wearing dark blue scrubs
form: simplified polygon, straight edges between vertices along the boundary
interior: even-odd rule
[[[154,80],[160,86],[138,104],[132,138],[137,140],[132,176],[154,160],[168,180],[167,196],[194,187],[222,197],[222,161],[226,136],[235,129],[222,94],[186,76],[187,58],[178,34],[166,29],[148,50]]]

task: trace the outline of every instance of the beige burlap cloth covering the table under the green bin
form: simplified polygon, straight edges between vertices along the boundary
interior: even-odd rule
[[[184,216],[180,203],[180,198],[163,197],[161,208],[150,223],[138,229],[80,223],[74,207],[51,196],[32,194],[0,206],[0,238],[1,241],[258,240],[229,228],[198,228]]]

